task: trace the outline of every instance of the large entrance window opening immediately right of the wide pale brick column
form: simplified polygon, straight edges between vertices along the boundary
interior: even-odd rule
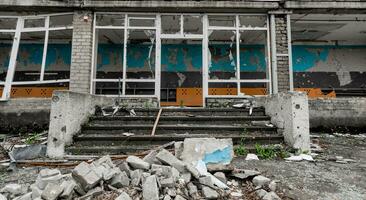
[[[97,79],[123,77],[124,30],[100,29],[98,35]]]

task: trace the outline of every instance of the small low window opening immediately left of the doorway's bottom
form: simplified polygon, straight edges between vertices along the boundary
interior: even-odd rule
[[[126,95],[154,95],[155,83],[152,82],[126,82]]]

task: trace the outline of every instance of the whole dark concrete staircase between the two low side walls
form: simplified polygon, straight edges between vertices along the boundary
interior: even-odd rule
[[[248,109],[164,108],[155,135],[151,132],[159,109],[134,111],[136,116],[127,111],[114,116],[96,113],[66,151],[69,155],[131,154],[189,137],[232,138],[234,145],[244,143],[249,150],[254,144],[283,142],[276,127],[254,122],[270,120],[263,108],[255,108],[252,115]]]

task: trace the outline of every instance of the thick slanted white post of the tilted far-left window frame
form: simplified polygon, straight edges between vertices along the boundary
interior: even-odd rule
[[[5,86],[4,86],[3,94],[1,97],[2,100],[8,100],[10,98],[11,84],[13,82],[13,78],[14,78],[14,74],[15,74],[15,67],[16,67],[15,63],[16,63],[19,43],[20,43],[20,39],[21,39],[20,30],[22,29],[23,24],[24,24],[24,19],[18,18],[17,28],[16,28],[16,32],[15,32],[15,35],[13,38],[13,45],[12,45],[12,49],[11,49],[11,53],[10,53],[8,71],[7,71],[6,79],[5,79]]]

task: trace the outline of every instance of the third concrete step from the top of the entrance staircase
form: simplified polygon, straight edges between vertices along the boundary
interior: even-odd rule
[[[134,133],[136,135],[149,135],[153,129],[153,124],[140,125],[85,125],[82,127],[83,134],[122,134]],[[243,132],[276,133],[277,128],[267,126],[251,125],[158,125],[156,135],[163,134],[241,134]]]

